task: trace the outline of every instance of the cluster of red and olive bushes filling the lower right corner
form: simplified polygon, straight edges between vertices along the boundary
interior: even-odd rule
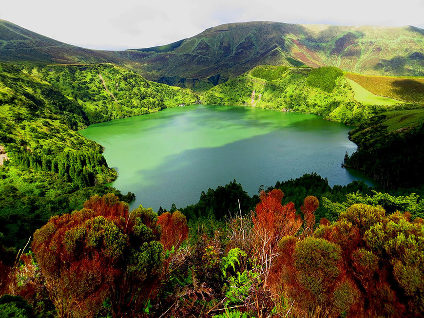
[[[294,317],[424,317],[424,224],[356,204],[311,234],[281,239],[272,266]]]

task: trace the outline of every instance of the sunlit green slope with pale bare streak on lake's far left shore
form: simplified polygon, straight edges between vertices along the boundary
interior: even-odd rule
[[[77,101],[92,124],[198,102],[188,89],[147,81],[113,64],[49,65],[33,72]]]

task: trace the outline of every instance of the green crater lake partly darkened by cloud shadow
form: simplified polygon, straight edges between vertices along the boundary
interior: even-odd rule
[[[317,172],[330,186],[373,181],[341,168],[351,127],[316,115],[247,107],[186,106],[113,120],[80,131],[104,146],[111,185],[138,205],[169,209],[195,204],[202,191],[235,179],[250,195],[276,181]]]

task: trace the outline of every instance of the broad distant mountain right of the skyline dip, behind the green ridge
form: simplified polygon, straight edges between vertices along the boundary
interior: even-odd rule
[[[368,75],[424,75],[424,31],[277,22],[231,23],[173,45],[139,49],[155,80],[215,85],[256,65],[336,66]]]

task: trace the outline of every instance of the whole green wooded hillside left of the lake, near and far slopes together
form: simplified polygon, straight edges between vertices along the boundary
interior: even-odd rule
[[[116,83],[135,89],[121,93]],[[0,166],[4,243],[21,248],[51,216],[70,213],[91,195],[113,192],[121,199],[133,199],[132,193],[124,197],[102,186],[115,180],[117,173],[108,167],[102,146],[78,129],[193,104],[196,98],[192,92],[146,81],[113,65],[53,71],[0,64],[0,146],[8,159]]]

